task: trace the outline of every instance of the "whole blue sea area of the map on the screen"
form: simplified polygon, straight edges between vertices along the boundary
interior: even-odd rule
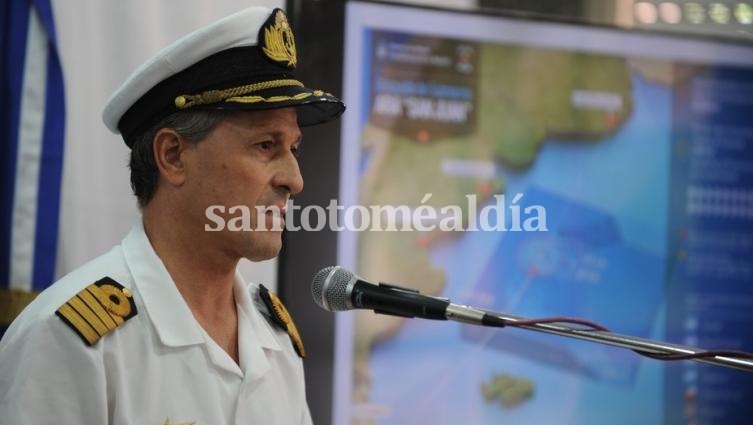
[[[523,193],[520,204],[549,205],[550,232],[464,232],[432,250],[446,272],[443,296],[509,314],[584,316],[615,332],[663,338],[671,92],[637,75],[632,83],[634,109],[618,132],[547,140],[528,170],[504,172],[508,202]],[[541,350],[502,346],[501,334]],[[370,403],[388,412],[379,424],[663,420],[664,363],[554,335],[501,329],[469,338],[466,325],[409,320],[373,349],[370,366]],[[487,403],[481,385],[498,373],[530,380],[532,398],[513,408]]]

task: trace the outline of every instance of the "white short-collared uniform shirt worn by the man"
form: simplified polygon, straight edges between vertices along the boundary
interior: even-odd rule
[[[138,313],[89,347],[55,310],[109,276]],[[310,424],[303,365],[236,274],[240,365],[191,314],[141,223],[107,254],[42,292],[0,342],[8,425]]]

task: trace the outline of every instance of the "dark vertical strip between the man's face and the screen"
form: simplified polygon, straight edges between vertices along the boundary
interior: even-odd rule
[[[296,76],[308,87],[342,97],[345,1],[288,1],[287,14],[298,50]],[[295,205],[326,208],[330,199],[338,199],[340,121],[302,130],[300,164],[305,183]],[[300,225],[300,210],[295,218],[294,224]],[[337,233],[325,226],[318,232],[286,232],[284,238],[278,263],[279,293],[306,347],[306,389],[314,423],[329,424],[335,321],[332,313],[312,301],[311,279],[317,271],[336,264]]]

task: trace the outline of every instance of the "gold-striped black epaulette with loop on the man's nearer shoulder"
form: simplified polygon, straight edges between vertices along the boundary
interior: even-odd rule
[[[105,277],[79,291],[55,314],[92,346],[135,316],[136,304],[130,289]]]

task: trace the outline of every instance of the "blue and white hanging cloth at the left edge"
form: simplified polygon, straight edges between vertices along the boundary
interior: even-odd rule
[[[0,335],[55,278],[65,92],[50,0],[0,5]]]

